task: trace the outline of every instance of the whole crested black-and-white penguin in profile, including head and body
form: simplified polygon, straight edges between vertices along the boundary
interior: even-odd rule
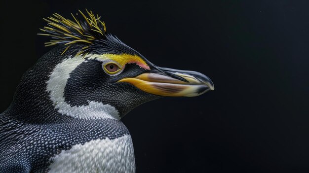
[[[120,119],[162,97],[214,90],[204,74],[155,66],[79,11],[44,19],[56,45],[27,70],[0,114],[0,173],[135,173]]]

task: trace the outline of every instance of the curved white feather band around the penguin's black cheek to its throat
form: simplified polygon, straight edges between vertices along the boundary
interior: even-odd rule
[[[70,78],[70,73],[83,62],[87,62],[83,56],[69,57],[59,63],[50,73],[46,92],[49,93],[55,109],[60,114],[80,119],[120,119],[118,110],[110,104],[90,101],[88,105],[71,106],[65,101],[64,89]]]

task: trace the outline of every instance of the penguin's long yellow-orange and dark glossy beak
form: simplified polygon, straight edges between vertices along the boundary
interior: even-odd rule
[[[130,83],[146,93],[170,97],[195,97],[215,89],[212,81],[202,73],[158,67],[118,82]]]

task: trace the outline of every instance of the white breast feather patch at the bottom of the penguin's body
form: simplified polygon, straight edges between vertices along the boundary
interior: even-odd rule
[[[49,173],[135,173],[131,136],[91,140],[52,158]]]

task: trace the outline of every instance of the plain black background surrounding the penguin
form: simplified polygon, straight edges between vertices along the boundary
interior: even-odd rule
[[[160,67],[196,70],[215,91],[143,104],[122,121],[137,173],[309,170],[309,1],[47,0],[0,5],[0,111],[50,50],[43,17],[99,13]]]

